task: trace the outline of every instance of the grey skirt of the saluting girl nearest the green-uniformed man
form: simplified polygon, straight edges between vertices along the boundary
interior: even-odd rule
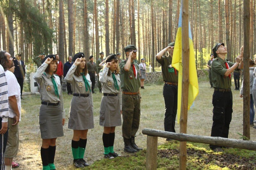
[[[100,104],[100,126],[121,126],[121,113],[118,96],[102,96]]]

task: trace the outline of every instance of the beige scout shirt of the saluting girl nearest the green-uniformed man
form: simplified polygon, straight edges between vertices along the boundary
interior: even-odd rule
[[[100,83],[102,83],[102,93],[108,93],[108,94],[118,94],[119,98],[119,104],[120,109],[122,110],[122,91],[121,91],[121,80],[119,74],[114,74],[117,80],[117,85],[119,87],[119,90],[115,89],[115,82],[112,77],[112,72],[110,71],[110,76],[108,76],[108,67],[105,67],[102,71],[99,73],[100,77]]]

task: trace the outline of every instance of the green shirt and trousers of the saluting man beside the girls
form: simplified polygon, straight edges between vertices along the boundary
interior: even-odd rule
[[[123,126],[122,132],[124,141],[131,138],[134,139],[136,132],[140,125],[140,78],[139,78],[139,65],[133,61],[131,68],[128,72],[124,71],[124,65],[127,59],[121,61],[120,67],[120,78],[121,78],[121,89],[122,94],[122,111],[123,111]],[[137,78],[133,73],[133,64],[137,70]],[[132,92],[131,94],[124,94],[124,92]],[[136,94],[135,94],[136,93]]]

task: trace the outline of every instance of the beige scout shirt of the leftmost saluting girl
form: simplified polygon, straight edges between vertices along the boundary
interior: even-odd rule
[[[62,96],[62,89],[60,85],[60,78],[59,76],[54,75],[54,80],[58,85],[58,91],[60,95],[60,97],[58,97],[58,96],[55,96],[55,90],[52,83],[51,75],[48,73],[45,73],[46,76],[44,75],[44,70],[47,68],[47,66],[48,64],[43,63],[36,70],[36,74],[34,75],[33,78],[36,80],[38,84],[41,101],[49,102],[49,103],[60,102],[60,107],[62,108],[62,118],[65,118],[65,110],[63,106],[63,96]]]

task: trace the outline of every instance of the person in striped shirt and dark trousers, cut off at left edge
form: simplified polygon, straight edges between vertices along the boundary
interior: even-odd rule
[[[9,117],[9,106],[8,106],[8,87],[7,79],[5,77],[4,70],[7,69],[7,65],[10,64],[7,60],[11,55],[6,51],[0,51],[0,169],[4,169],[4,152],[8,138],[8,117]],[[7,65],[6,65],[7,63]],[[3,67],[3,66],[4,67]]]

